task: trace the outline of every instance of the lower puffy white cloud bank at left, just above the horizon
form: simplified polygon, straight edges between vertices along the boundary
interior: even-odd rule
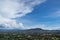
[[[17,23],[16,20],[6,19],[3,17],[0,17],[0,25],[2,25],[4,28],[24,28],[22,23]]]

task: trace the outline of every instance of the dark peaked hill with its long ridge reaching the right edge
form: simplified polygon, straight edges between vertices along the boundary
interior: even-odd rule
[[[41,28],[35,28],[35,29],[28,29],[28,30],[23,30],[23,33],[45,33],[45,34],[60,34],[60,30],[44,30]]]

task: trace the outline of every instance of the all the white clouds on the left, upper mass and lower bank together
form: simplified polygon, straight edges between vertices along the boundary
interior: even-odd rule
[[[0,24],[6,28],[24,27],[12,18],[23,17],[46,0],[0,0]]]

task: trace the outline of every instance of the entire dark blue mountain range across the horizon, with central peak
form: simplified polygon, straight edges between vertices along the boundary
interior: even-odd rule
[[[26,30],[21,30],[21,29],[0,29],[0,32],[19,32],[19,33],[25,33],[25,34],[32,34],[32,33],[50,33],[50,34],[60,34],[60,30],[43,30],[41,28],[34,28],[34,29],[26,29]]]

